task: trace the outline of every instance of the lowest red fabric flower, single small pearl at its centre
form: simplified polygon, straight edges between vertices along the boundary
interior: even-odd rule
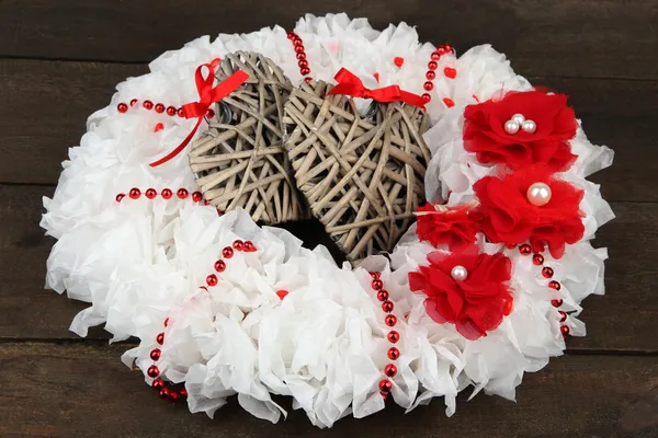
[[[409,273],[409,286],[427,296],[424,307],[432,320],[455,324],[464,337],[477,339],[500,325],[510,313],[512,262],[503,254],[434,252],[428,255],[428,261],[430,266]],[[453,278],[455,266],[466,268],[466,279]]]

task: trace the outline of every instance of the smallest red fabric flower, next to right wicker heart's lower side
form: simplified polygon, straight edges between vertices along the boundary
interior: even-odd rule
[[[441,207],[439,207],[441,208]],[[434,247],[446,244],[450,251],[458,250],[475,242],[479,231],[477,211],[472,206],[438,209],[426,204],[418,209],[416,234]]]

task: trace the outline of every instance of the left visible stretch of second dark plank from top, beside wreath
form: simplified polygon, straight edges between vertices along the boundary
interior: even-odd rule
[[[147,71],[139,65],[0,61],[0,181],[57,182],[87,117],[107,105],[116,83]]]

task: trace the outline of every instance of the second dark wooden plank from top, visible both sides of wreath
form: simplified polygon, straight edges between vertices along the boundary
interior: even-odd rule
[[[0,182],[53,184],[78,145],[84,120],[107,104],[116,82],[144,66],[0,60]],[[590,139],[615,149],[614,165],[594,176],[610,200],[658,201],[658,82],[538,78],[571,95]],[[16,165],[21,163],[21,165]],[[624,184],[620,184],[624,181]]]

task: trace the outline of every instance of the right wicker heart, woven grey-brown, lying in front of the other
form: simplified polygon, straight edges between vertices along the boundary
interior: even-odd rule
[[[401,103],[377,104],[362,118],[354,102],[303,84],[285,104],[286,142],[297,187],[311,212],[348,254],[392,251],[424,198],[430,152],[427,118]]]

